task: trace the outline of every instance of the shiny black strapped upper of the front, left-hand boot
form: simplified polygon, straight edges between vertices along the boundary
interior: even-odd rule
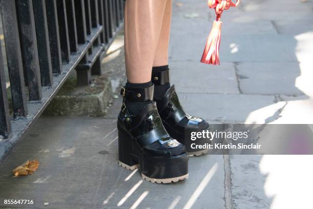
[[[131,134],[140,149],[147,155],[175,156],[184,153],[184,145],[172,139],[165,130],[155,102],[151,102],[137,115],[130,115],[127,111],[125,100],[134,98],[134,95],[130,94],[137,96],[138,92],[141,92],[140,94],[145,92],[141,95],[141,99],[146,101],[151,97],[149,91],[152,91],[153,95],[153,88],[145,91],[122,88],[123,106],[118,117],[118,128]]]

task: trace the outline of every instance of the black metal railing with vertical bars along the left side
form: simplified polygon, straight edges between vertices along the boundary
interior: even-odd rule
[[[0,160],[71,71],[80,86],[101,73],[100,54],[121,28],[123,8],[124,0],[0,0]]]

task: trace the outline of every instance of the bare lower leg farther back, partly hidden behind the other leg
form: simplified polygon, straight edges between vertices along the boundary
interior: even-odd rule
[[[153,67],[168,65],[168,45],[170,39],[171,18],[172,0],[168,0],[165,7],[159,43],[154,56]]]

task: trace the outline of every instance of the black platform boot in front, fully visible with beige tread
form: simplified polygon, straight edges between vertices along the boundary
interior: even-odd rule
[[[123,106],[118,117],[119,164],[128,170],[140,168],[144,179],[171,183],[188,178],[185,146],[166,132],[157,105],[153,85],[145,89],[121,89]],[[126,100],[151,101],[139,114],[130,115]]]

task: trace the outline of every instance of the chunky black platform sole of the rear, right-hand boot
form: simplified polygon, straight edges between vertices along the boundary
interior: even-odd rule
[[[176,130],[173,129],[171,126],[169,126],[169,124],[165,120],[162,120],[162,123],[167,133],[170,135],[170,137],[172,137],[173,139],[176,139],[177,141],[185,145],[186,152],[189,154],[190,157],[204,155],[209,152],[209,149],[203,149],[203,150],[192,149],[190,146],[190,140],[187,141],[184,134],[176,132]],[[210,126],[207,130],[211,131],[212,127]],[[211,141],[208,142],[207,139],[198,139],[198,143],[205,144],[205,143],[211,143]]]

